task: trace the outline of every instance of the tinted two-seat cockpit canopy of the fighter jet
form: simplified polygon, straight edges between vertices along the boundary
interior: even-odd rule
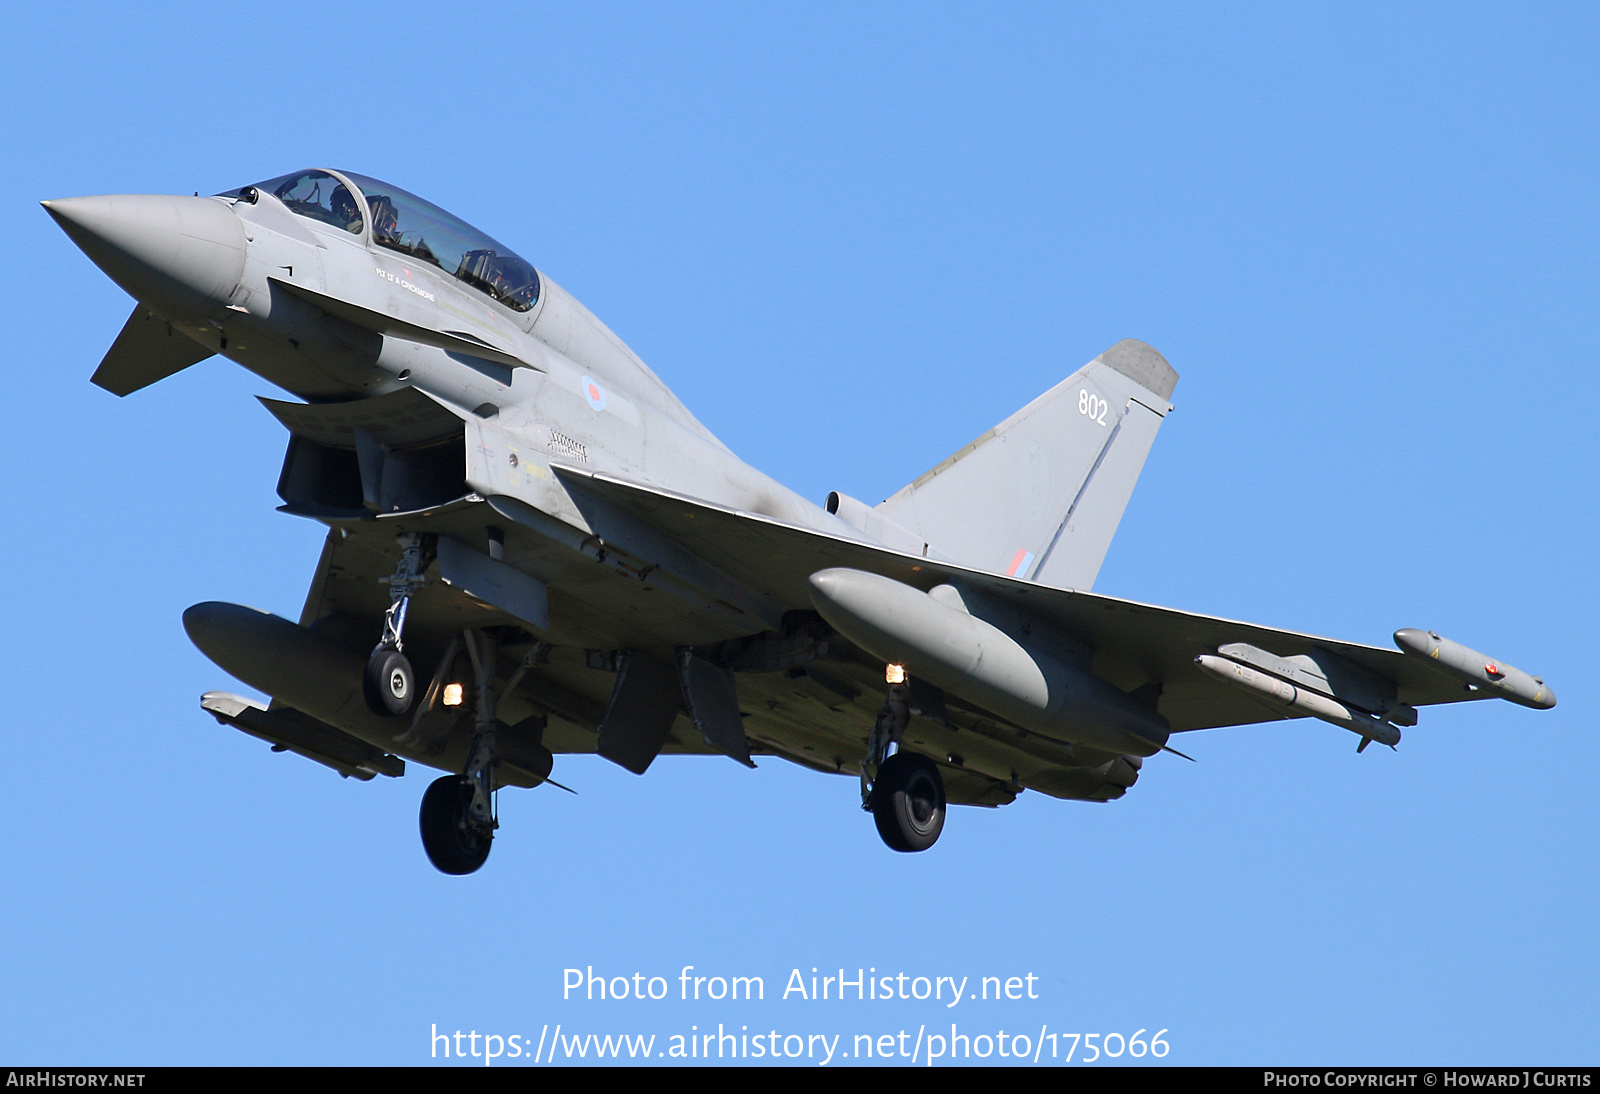
[[[379,246],[430,262],[515,312],[526,312],[539,302],[538,270],[506,245],[398,186],[350,171],[344,176],[363,190],[371,211],[373,242]],[[326,171],[285,174],[243,187],[238,195],[245,197],[251,189],[266,190],[291,213],[352,235],[366,229],[360,203],[344,182]]]

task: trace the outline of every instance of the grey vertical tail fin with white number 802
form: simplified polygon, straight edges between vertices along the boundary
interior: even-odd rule
[[[878,509],[955,561],[1091,589],[1176,384],[1123,339]]]

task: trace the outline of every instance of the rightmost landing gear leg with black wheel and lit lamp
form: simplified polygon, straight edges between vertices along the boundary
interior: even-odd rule
[[[928,757],[899,750],[910,721],[910,689],[899,665],[890,665],[888,680],[861,765],[861,808],[872,814],[890,849],[926,851],[944,830],[944,777]],[[894,753],[888,755],[891,745]],[[877,776],[867,779],[869,769]]]

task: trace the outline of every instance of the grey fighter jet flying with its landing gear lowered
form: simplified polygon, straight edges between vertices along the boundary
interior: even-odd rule
[[[859,781],[894,851],[947,805],[1120,798],[1174,734],[1416,709],[1538,677],[1090,592],[1178,373],[1120,341],[877,505],[739,461],[531,262],[397,186],[309,170],[216,197],[45,202],[136,301],[93,382],[222,355],[296,397],[282,512],[328,526],[298,622],[227,603],[194,643],[272,696],[200,705],[342,776],[445,774],[422,844],[470,873],[496,792],[555,753],[778,757]],[[555,784],[560,785],[560,784]]]

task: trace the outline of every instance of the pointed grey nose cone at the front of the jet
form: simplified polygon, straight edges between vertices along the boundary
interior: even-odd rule
[[[224,307],[245,274],[245,226],[216,198],[117,194],[42,205],[110,280],[168,317]]]

